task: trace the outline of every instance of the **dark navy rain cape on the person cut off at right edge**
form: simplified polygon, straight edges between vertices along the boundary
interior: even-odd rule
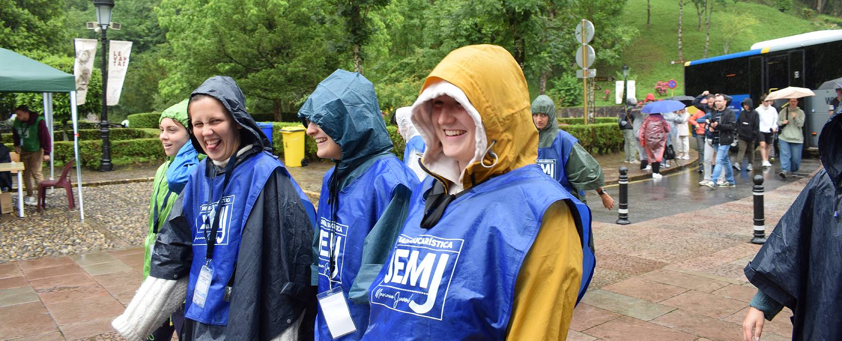
[[[745,267],[760,291],[792,310],[792,339],[842,339],[842,114],[818,138],[823,170],[807,183]]]

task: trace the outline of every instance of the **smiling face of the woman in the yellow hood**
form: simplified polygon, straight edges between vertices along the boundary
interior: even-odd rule
[[[462,105],[447,95],[433,99],[433,130],[441,141],[446,157],[460,163],[464,168],[471,162],[477,149],[474,135],[477,126]]]

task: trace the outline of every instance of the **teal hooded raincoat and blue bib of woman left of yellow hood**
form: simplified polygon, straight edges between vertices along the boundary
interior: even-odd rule
[[[368,327],[369,284],[385,263],[418,178],[390,152],[392,140],[374,85],[360,73],[333,72],[318,84],[298,115],[318,125],[342,150],[341,159],[334,160],[336,166],[322,181],[313,271],[318,274],[319,293],[331,285],[344,292],[357,329],[339,339],[359,339]],[[332,339],[321,307],[316,339]]]

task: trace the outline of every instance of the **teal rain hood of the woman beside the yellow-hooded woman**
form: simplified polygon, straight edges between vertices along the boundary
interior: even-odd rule
[[[333,160],[333,173],[339,178],[392,150],[374,84],[358,72],[339,69],[318,83],[298,110],[298,117],[318,125],[339,145],[342,159]]]

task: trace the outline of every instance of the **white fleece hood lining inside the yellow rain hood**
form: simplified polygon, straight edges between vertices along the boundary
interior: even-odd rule
[[[418,129],[418,134],[424,139],[427,145],[424,156],[421,158],[424,167],[431,173],[440,175],[442,178],[449,180],[455,186],[450,187],[450,194],[461,192],[462,183],[461,178],[465,174],[465,169],[459,168],[459,163],[456,160],[446,157],[442,150],[441,141],[435,135],[433,125],[433,102],[432,100],[441,96],[447,95],[456,102],[461,104],[468,115],[474,121],[476,132],[474,133],[474,157],[468,165],[482,161],[482,157],[488,147],[488,141],[485,136],[485,127],[482,125],[482,118],[474,108],[471,101],[468,100],[466,94],[460,88],[447,81],[440,81],[438,83],[430,84],[415,100],[412,106],[411,119],[415,128]]]

